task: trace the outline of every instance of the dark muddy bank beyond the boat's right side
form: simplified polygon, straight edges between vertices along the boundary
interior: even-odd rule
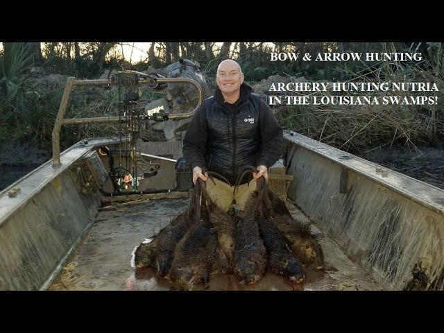
[[[419,151],[410,151],[408,148],[379,148],[366,154],[355,155],[444,189],[444,148],[418,149]]]

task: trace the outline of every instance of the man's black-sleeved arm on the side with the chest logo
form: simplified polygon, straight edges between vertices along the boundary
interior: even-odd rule
[[[284,145],[282,128],[271,108],[262,99],[259,101],[259,121],[262,135],[262,148],[257,165],[269,168],[279,159]]]

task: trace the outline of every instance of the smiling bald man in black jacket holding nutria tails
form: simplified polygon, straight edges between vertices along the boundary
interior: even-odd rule
[[[254,178],[264,176],[268,181],[268,168],[282,151],[282,128],[266,102],[244,83],[237,62],[223,60],[217,67],[216,83],[214,96],[205,99],[194,112],[182,153],[191,164],[195,184],[197,178],[207,180],[203,167],[230,182],[216,179],[216,186],[207,182],[208,193],[224,212],[233,202],[243,210],[256,182],[246,176],[235,196],[234,183],[248,165],[257,167]]]

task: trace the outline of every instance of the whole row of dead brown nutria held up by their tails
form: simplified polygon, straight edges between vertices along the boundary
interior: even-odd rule
[[[237,185],[254,171],[248,167]],[[214,173],[209,174],[212,181]],[[192,290],[208,287],[216,273],[234,274],[241,284],[255,284],[267,269],[283,275],[290,284],[300,284],[304,268],[322,269],[324,257],[309,225],[291,217],[263,177],[237,216],[214,204],[205,183],[198,179],[188,210],[151,242],[137,247],[135,265],[151,267],[159,278],[169,280],[171,289]]]

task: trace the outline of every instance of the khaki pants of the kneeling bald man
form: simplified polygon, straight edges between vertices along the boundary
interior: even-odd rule
[[[236,195],[233,195],[234,186],[230,186],[219,179],[213,179],[214,182],[216,182],[216,185],[214,185],[210,179],[205,182],[205,185],[207,185],[207,192],[214,203],[221,207],[223,212],[227,212],[230,209],[233,199],[236,200],[239,209],[244,210],[250,194],[256,189],[256,180],[253,179],[246,184],[240,185],[237,188]]]

